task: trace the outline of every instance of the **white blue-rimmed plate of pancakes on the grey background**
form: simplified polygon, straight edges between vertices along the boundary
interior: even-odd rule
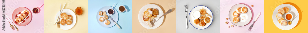
[[[200,26],[200,25],[198,25],[198,24],[195,24],[195,22],[194,22],[194,20],[195,19],[198,19],[198,18],[195,18],[195,17],[193,17],[193,12],[195,12],[195,11],[200,11],[200,9],[202,9],[202,8],[204,8],[204,9],[206,9],[206,13],[208,13],[210,16],[212,16],[212,18],[210,18],[210,22],[208,23],[208,24],[206,24],[205,26]],[[208,7],[206,7],[206,6],[203,6],[203,5],[198,5],[198,6],[196,6],[196,7],[194,7],[191,11],[190,11],[191,13],[189,13],[189,22],[190,22],[190,24],[194,27],[194,28],[197,28],[197,29],[205,29],[205,28],[208,28],[211,24],[212,24],[212,22],[213,22],[213,13],[212,13],[212,11],[208,8]]]

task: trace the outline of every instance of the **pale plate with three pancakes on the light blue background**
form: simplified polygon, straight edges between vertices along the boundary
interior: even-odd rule
[[[117,10],[116,10],[115,8],[113,8],[114,14],[113,14],[113,15],[110,15],[110,14],[108,13],[108,10],[111,9],[111,8],[112,8],[111,6],[104,6],[104,7],[100,8],[99,11],[105,11],[105,12],[106,12],[106,15],[107,15],[107,16],[111,16],[111,18],[112,18],[113,20],[115,20],[115,22],[117,23],[117,22],[119,21],[119,13],[117,12]],[[103,26],[103,27],[105,27],[105,28],[111,28],[111,27],[113,27],[113,26],[115,25],[115,23],[114,23],[110,18],[107,19],[107,20],[110,21],[110,24],[109,24],[109,25],[106,25],[106,24],[104,23],[106,20],[104,20],[103,22],[100,22],[100,21],[99,21],[99,18],[100,18],[100,17],[103,17],[103,16],[100,16],[100,15],[99,15],[99,11],[97,11],[97,13],[96,13],[96,20],[97,20],[97,22],[99,23],[99,25],[101,25],[101,26]]]

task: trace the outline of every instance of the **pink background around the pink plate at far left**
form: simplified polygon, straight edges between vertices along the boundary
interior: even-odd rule
[[[26,7],[30,9],[32,12],[32,9],[34,7],[39,7],[40,5],[44,4],[44,0],[6,0],[5,6],[6,11],[5,14],[9,16],[9,18],[12,18],[13,11],[18,7]],[[44,6],[40,8],[40,12],[38,14],[34,14],[32,12],[32,21],[26,25],[26,26],[18,26],[15,24],[15,26],[19,29],[19,31],[12,30],[10,28],[10,24],[5,20],[5,31],[3,31],[1,28],[1,33],[44,33]],[[14,20],[14,19],[11,19]],[[3,23],[3,22],[2,22]],[[12,22],[10,22],[12,24]],[[12,24],[13,25],[13,24]]]

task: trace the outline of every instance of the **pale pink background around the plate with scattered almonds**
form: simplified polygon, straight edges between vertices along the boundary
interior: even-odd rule
[[[245,3],[253,10],[252,21],[246,26],[235,26],[231,23],[228,14],[231,7],[235,4]],[[264,33],[264,0],[220,0],[220,33]],[[261,12],[261,15],[257,19],[251,31],[248,31],[249,27],[253,24],[253,20],[257,17],[257,14]],[[225,24],[228,21],[229,24]],[[231,25],[234,25],[232,28]],[[230,28],[228,28],[230,26]]]

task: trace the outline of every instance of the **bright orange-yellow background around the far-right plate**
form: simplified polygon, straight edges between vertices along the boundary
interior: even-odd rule
[[[281,4],[284,4],[286,2],[291,2],[296,4],[302,12],[302,14],[299,14],[300,18],[302,17],[302,20],[297,27],[290,29],[290,30],[281,30],[277,28],[272,20],[272,15],[274,9]],[[264,32],[265,33],[303,33],[307,32],[308,30],[308,23],[307,23],[307,0],[264,0]],[[299,10],[298,10],[299,11]],[[300,12],[300,11],[299,11]]]

